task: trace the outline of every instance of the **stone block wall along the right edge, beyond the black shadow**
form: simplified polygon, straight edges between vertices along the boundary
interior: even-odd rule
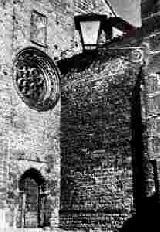
[[[156,8],[157,9],[157,8]],[[158,10],[158,9],[157,9]],[[158,14],[153,14],[152,17],[144,21],[144,28],[146,25],[151,25],[154,23],[152,31],[144,30],[143,42],[147,47],[147,62],[145,68],[145,79],[147,87],[147,110],[146,110],[146,125],[147,125],[147,135],[148,135],[148,154],[149,159],[152,162],[151,173],[152,178],[149,179],[150,190],[148,195],[153,196],[156,194],[159,188],[159,64],[160,64],[160,49],[159,49],[159,28],[158,24],[159,16]],[[153,165],[155,164],[155,166]],[[157,178],[156,181],[153,179]]]

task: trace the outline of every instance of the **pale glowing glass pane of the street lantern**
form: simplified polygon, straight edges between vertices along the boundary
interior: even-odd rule
[[[82,38],[85,45],[96,45],[100,21],[82,21],[80,22]]]

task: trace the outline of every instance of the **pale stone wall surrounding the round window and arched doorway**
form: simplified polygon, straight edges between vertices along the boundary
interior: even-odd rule
[[[1,8],[1,227],[20,226],[21,176],[31,168],[45,178],[49,190],[50,225],[58,224],[60,196],[60,99],[54,109],[37,112],[19,97],[13,83],[13,60],[26,47],[36,47],[52,60],[72,44],[72,14],[51,1],[2,1]],[[31,13],[47,19],[47,46],[31,42]],[[65,23],[64,23],[65,22]]]

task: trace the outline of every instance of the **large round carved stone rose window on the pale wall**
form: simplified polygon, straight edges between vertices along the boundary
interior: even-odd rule
[[[33,109],[52,109],[59,98],[59,74],[52,59],[34,47],[20,51],[13,64],[19,96]]]

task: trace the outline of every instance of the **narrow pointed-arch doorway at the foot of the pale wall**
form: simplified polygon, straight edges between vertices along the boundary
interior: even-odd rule
[[[45,180],[34,168],[20,178],[20,227],[38,228],[46,225]]]

